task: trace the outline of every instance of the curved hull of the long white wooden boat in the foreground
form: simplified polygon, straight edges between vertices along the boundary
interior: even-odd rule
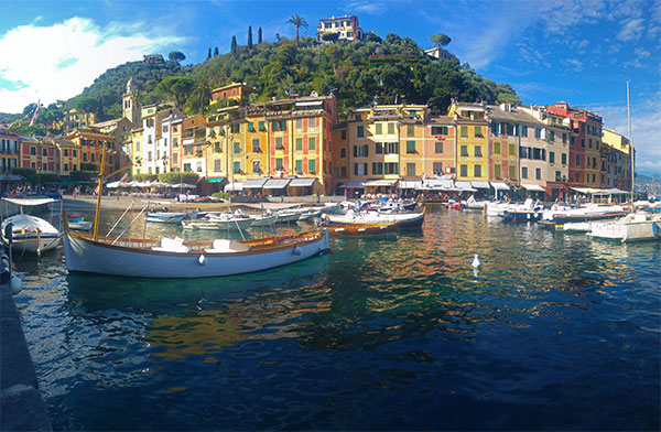
[[[257,252],[167,252],[94,241],[67,233],[66,268],[72,272],[131,278],[193,279],[251,273],[294,263],[329,250],[328,233]]]

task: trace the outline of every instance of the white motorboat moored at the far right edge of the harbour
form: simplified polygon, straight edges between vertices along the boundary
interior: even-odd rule
[[[632,213],[617,220],[594,222],[588,236],[626,241],[660,240],[661,216]]]

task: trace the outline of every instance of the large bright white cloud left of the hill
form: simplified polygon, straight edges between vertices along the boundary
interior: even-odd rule
[[[101,29],[74,17],[51,26],[21,25],[0,37],[0,111],[19,112],[41,99],[50,104],[79,94],[110,67],[181,43],[181,37],[150,36],[140,23]],[[17,88],[19,87],[19,88]]]

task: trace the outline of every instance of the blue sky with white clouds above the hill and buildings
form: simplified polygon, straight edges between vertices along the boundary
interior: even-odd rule
[[[209,47],[293,37],[288,19],[308,23],[355,14],[365,32],[413,39],[452,37],[447,50],[523,104],[564,100],[631,138],[637,171],[661,177],[661,0],[0,0],[0,112],[78,95],[106,69],[171,51],[184,64]]]

